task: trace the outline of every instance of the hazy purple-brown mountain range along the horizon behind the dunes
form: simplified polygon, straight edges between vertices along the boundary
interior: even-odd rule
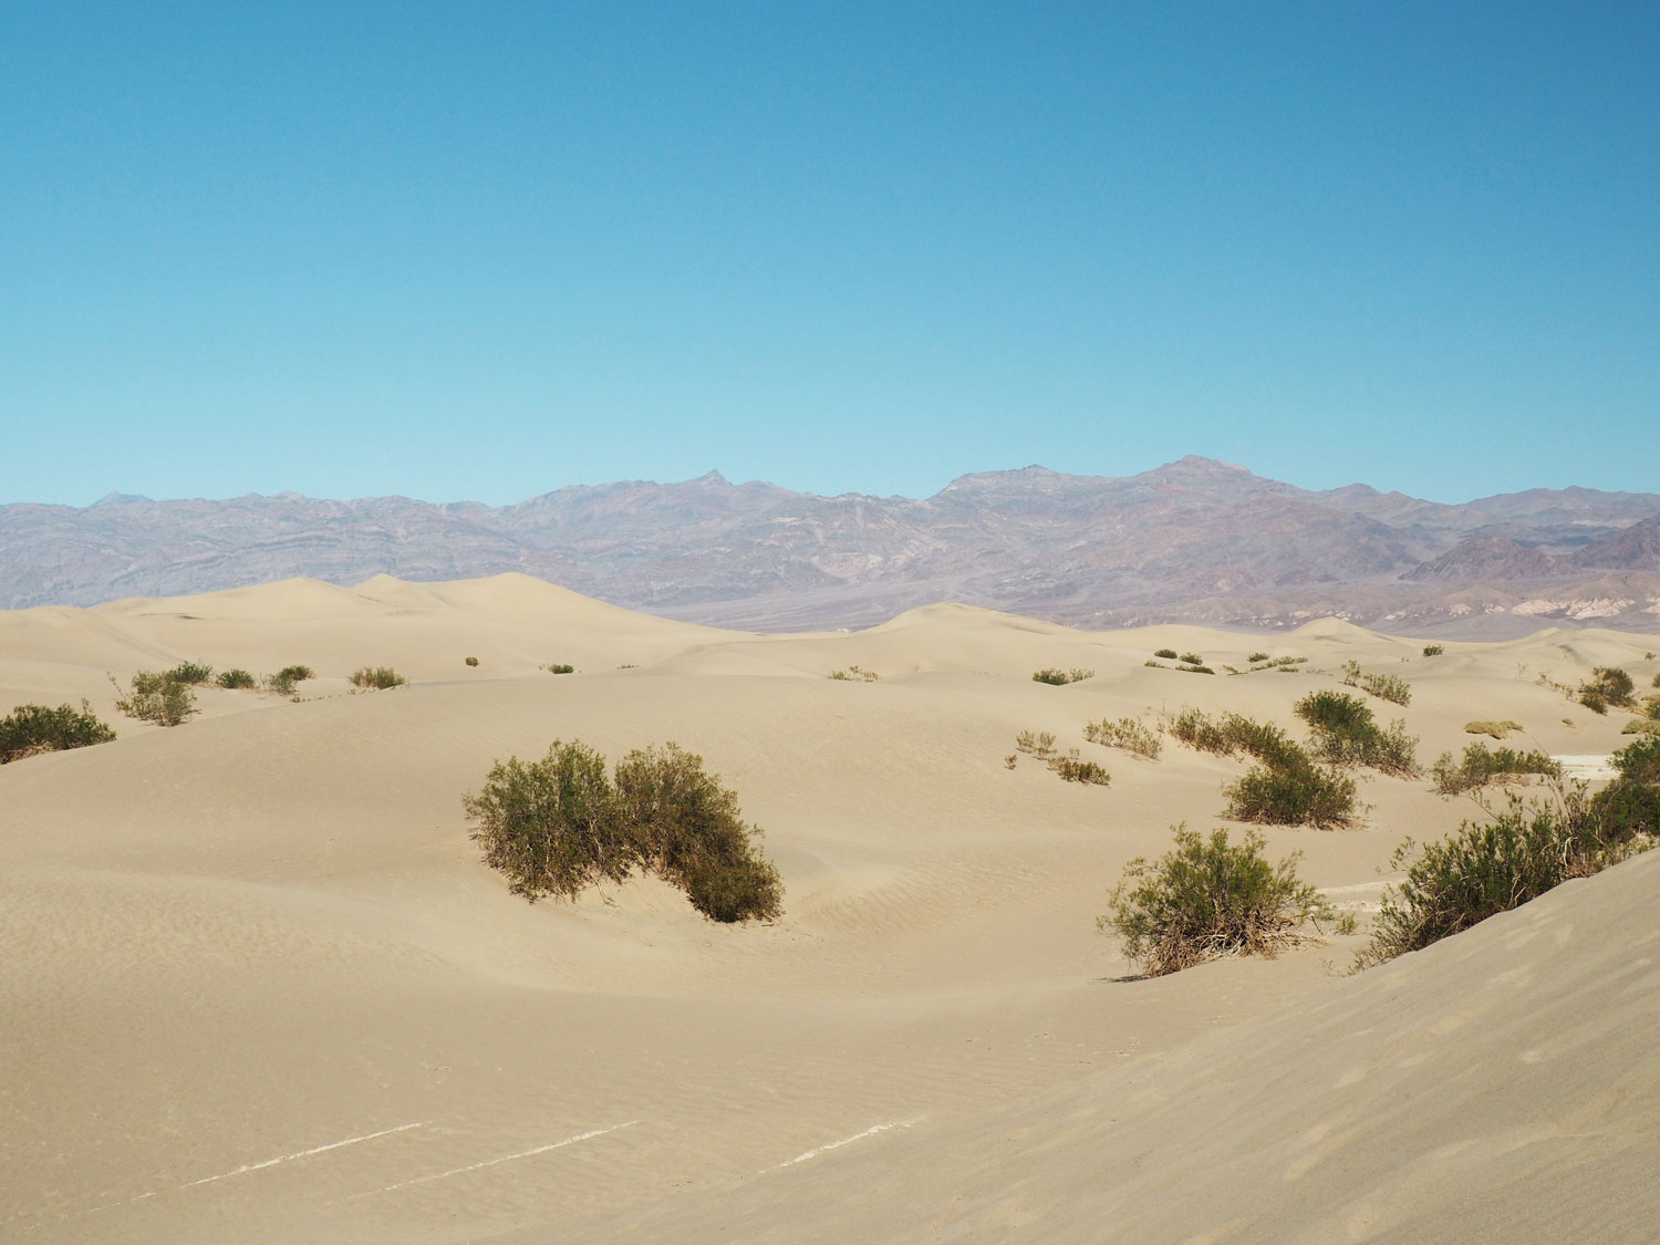
[[[573,485],[510,506],[297,493],[0,506],[0,604],[96,604],[305,574],[525,571],[632,609],[750,629],[868,626],[963,601],[1082,626],[1444,636],[1660,631],[1660,493],[1464,505],[1325,491],[1187,456],[1132,476],[1026,466],[930,498],[817,496],[719,471]]]

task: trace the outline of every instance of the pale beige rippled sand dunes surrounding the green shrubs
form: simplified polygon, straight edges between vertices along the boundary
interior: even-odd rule
[[[1257,649],[1308,662],[1220,672]],[[1411,682],[1373,706],[1421,760],[1469,719],[1600,757],[1625,719],[1539,676],[1660,671],[1660,637],[1599,631],[1421,649],[961,606],[752,636],[511,574],[0,613],[0,712],[88,697],[120,730],[0,767],[0,1240],[1650,1238],[1660,853],[1360,976],[1365,938],[1333,936],[1125,981],[1096,931],[1124,863],[1223,825],[1243,767],[1087,720],[1300,737],[1291,702],[1355,659]],[[106,672],[181,659],[319,677],[203,689],[171,730],[115,712]],[[360,666],[412,684],[352,694]],[[827,677],[848,666],[881,677]],[[1023,729],[1112,785],[1009,770]],[[784,920],[712,925],[651,880],[508,895],[461,795],[554,739],[702,754]],[[1361,790],[1361,825],[1267,838],[1365,915],[1403,837],[1476,808]]]

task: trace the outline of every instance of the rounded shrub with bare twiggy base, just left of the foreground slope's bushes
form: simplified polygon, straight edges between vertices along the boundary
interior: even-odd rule
[[[1331,916],[1320,893],[1296,876],[1300,853],[1278,865],[1248,832],[1230,845],[1227,830],[1202,838],[1174,827],[1175,847],[1149,863],[1135,858],[1096,925],[1124,940],[1124,954],[1145,976],[1175,973],[1225,954],[1263,954],[1305,941],[1303,925]],[[1316,926],[1318,928],[1318,926]]]

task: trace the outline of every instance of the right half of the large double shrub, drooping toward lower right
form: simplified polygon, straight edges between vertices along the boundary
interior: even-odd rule
[[[779,870],[755,852],[737,793],[677,744],[636,749],[616,767],[618,823],[642,868],[681,886],[715,921],[784,911]]]

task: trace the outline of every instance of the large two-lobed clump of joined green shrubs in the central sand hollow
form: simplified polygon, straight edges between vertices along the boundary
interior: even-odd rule
[[[757,853],[760,832],[742,820],[737,795],[677,744],[629,752],[613,779],[593,749],[554,740],[543,760],[498,762],[463,805],[485,862],[533,901],[574,898],[639,868],[715,921],[784,910],[779,872]]]

